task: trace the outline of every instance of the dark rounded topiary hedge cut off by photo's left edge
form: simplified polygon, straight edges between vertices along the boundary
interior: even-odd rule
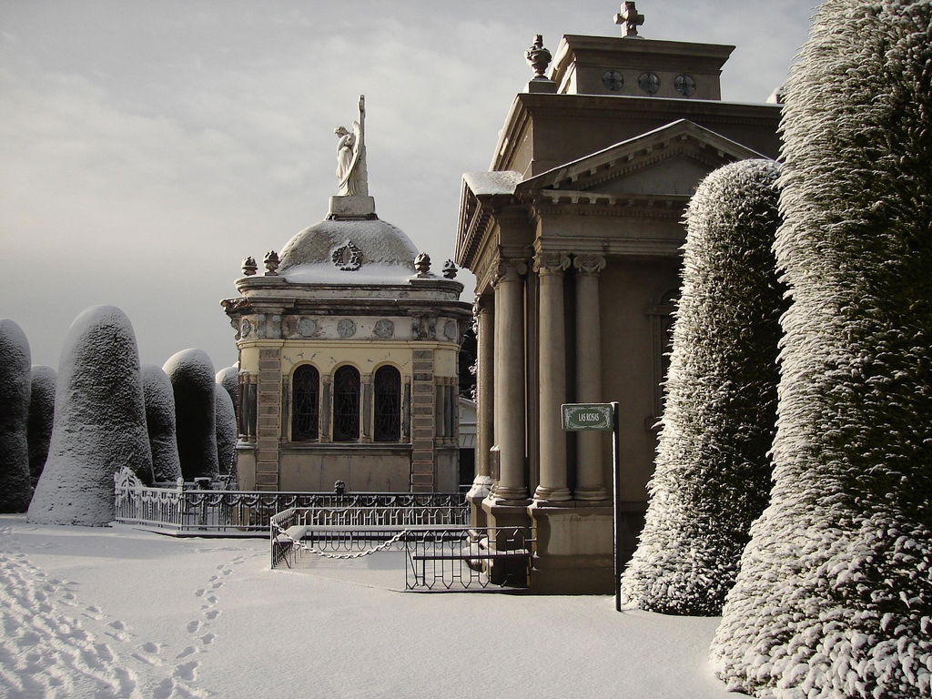
[[[29,478],[29,340],[16,322],[0,319],[0,513],[25,512]]]

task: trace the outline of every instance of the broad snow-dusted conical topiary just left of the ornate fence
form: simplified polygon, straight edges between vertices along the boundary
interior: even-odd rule
[[[119,308],[85,309],[65,337],[46,467],[29,506],[37,524],[102,526],[114,518],[114,473],[151,478],[139,353]]]

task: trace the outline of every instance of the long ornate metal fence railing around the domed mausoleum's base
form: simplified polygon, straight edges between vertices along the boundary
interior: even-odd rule
[[[129,470],[116,476],[117,522],[197,536],[265,533],[277,513],[295,509],[315,526],[460,525],[469,518],[458,493],[302,493],[144,487]]]

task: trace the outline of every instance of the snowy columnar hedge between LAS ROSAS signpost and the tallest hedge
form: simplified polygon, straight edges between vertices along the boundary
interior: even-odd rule
[[[779,316],[773,160],[709,174],[686,214],[683,281],[651,500],[627,606],[718,615],[767,505]]]

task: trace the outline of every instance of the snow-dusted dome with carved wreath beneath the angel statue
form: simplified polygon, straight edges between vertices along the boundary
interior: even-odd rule
[[[404,231],[386,221],[326,220],[287,242],[278,271],[299,283],[406,283],[417,255]]]

